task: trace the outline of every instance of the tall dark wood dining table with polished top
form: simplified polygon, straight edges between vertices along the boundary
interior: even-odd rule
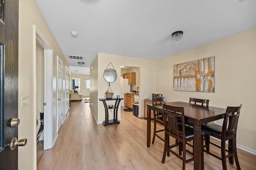
[[[202,164],[201,125],[224,118],[226,109],[205,107],[186,102],[167,102],[167,105],[184,107],[185,122],[194,124],[194,170],[204,169]],[[162,105],[147,105],[147,147],[150,147],[151,110],[162,113]]]

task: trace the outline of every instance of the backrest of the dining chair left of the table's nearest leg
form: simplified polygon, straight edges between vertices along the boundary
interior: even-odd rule
[[[184,107],[175,107],[162,103],[163,117],[164,117],[164,128],[173,135],[184,136]],[[182,122],[181,122],[182,121]],[[178,124],[182,123],[182,130],[179,130]]]

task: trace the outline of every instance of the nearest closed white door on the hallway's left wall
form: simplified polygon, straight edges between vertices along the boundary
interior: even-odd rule
[[[57,105],[57,113],[58,113],[58,130],[60,130],[60,127],[62,125],[62,67],[63,63],[62,60],[58,57],[58,105]]]

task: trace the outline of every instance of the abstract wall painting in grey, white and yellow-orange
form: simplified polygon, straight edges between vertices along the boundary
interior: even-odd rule
[[[173,90],[214,92],[214,56],[174,65]]]

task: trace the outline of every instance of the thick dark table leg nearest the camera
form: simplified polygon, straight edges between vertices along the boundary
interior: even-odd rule
[[[201,126],[194,125],[194,170],[204,169],[202,164]]]

